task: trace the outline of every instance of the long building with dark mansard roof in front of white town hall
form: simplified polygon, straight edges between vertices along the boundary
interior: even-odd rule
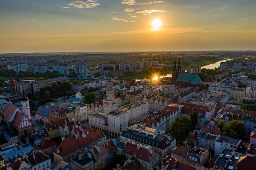
[[[165,130],[153,129],[147,124],[134,124],[120,132],[121,142],[135,142],[150,147],[160,156],[170,154],[176,146],[176,138],[165,133]]]

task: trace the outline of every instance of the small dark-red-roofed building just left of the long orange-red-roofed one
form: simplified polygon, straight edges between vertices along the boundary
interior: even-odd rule
[[[41,150],[44,154],[51,156],[53,150],[57,147],[57,144],[52,139],[49,137],[39,136],[39,138],[34,141],[35,149]]]

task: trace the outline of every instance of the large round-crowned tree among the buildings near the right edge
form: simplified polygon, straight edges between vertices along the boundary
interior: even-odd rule
[[[232,120],[223,127],[223,135],[231,138],[243,139],[246,135],[244,123],[239,120]]]

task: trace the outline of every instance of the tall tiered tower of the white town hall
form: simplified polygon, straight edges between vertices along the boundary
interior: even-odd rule
[[[107,98],[104,99],[104,113],[105,118],[107,118],[107,124],[108,124],[108,113],[112,112],[117,109],[117,99],[114,98],[114,89],[113,89],[113,82],[111,80],[111,76],[109,75],[108,81],[107,81]]]

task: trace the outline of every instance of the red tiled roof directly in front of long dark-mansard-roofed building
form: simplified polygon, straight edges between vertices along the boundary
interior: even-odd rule
[[[125,147],[123,148],[122,152],[127,153],[131,156],[136,155],[137,158],[143,159],[145,161],[152,161],[154,158],[158,156],[157,153],[152,152],[152,155],[150,151],[144,147],[141,147],[138,149],[136,144],[132,144],[131,142],[127,142],[125,144]]]

